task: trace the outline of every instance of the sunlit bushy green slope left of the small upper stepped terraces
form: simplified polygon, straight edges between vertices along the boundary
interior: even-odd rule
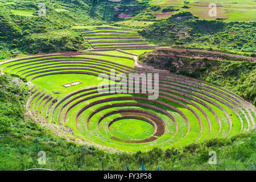
[[[9,58],[13,52],[64,52],[89,47],[79,32],[71,29],[79,18],[58,13],[47,2],[46,7],[46,16],[39,17],[38,3],[35,2],[0,5],[0,59]],[[12,14],[12,9],[32,9],[34,15]],[[88,15],[80,14],[80,20],[88,18]]]

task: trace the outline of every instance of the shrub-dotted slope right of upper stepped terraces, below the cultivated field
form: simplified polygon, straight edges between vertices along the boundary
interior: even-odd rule
[[[158,45],[182,45],[224,52],[242,52],[255,56],[255,22],[200,20],[189,12],[183,12],[150,24],[140,33]]]

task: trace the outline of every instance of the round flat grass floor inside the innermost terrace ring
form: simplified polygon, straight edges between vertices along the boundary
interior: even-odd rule
[[[114,122],[109,131],[115,137],[125,140],[142,140],[154,134],[154,127],[139,119],[121,119]]]

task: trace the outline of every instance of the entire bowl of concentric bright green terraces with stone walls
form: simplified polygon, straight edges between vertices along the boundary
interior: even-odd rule
[[[99,50],[103,53],[92,52]],[[194,78],[134,68],[136,55],[109,50],[30,57],[0,64],[0,68],[34,84],[27,109],[37,122],[71,127],[77,137],[102,146],[126,151],[170,148],[254,128],[255,107],[236,94]],[[148,100],[149,94],[141,89],[132,94],[109,92],[117,88],[116,82],[101,82],[97,76],[111,76],[110,69],[125,75],[159,73],[159,97]],[[140,88],[147,83],[143,79]],[[75,81],[82,84],[62,86]],[[126,135],[133,130],[141,134]]]

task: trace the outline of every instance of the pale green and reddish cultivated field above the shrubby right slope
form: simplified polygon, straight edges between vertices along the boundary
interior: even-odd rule
[[[236,21],[251,21],[255,20],[256,13],[256,5],[254,0],[151,0],[149,2],[151,5],[159,5],[161,7],[160,10],[152,12],[158,19],[167,18],[171,14],[177,13],[177,11],[171,12],[169,14],[162,12],[164,8],[170,6],[182,11],[190,11],[192,14],[199,16],[201,19],[226,18],[228,20]],[[210,8],[208,6],[210,3],[216,3],[217,16],[209,16],[208,12]],[[188,6],[189,9],[184,9],[184,5]]]

